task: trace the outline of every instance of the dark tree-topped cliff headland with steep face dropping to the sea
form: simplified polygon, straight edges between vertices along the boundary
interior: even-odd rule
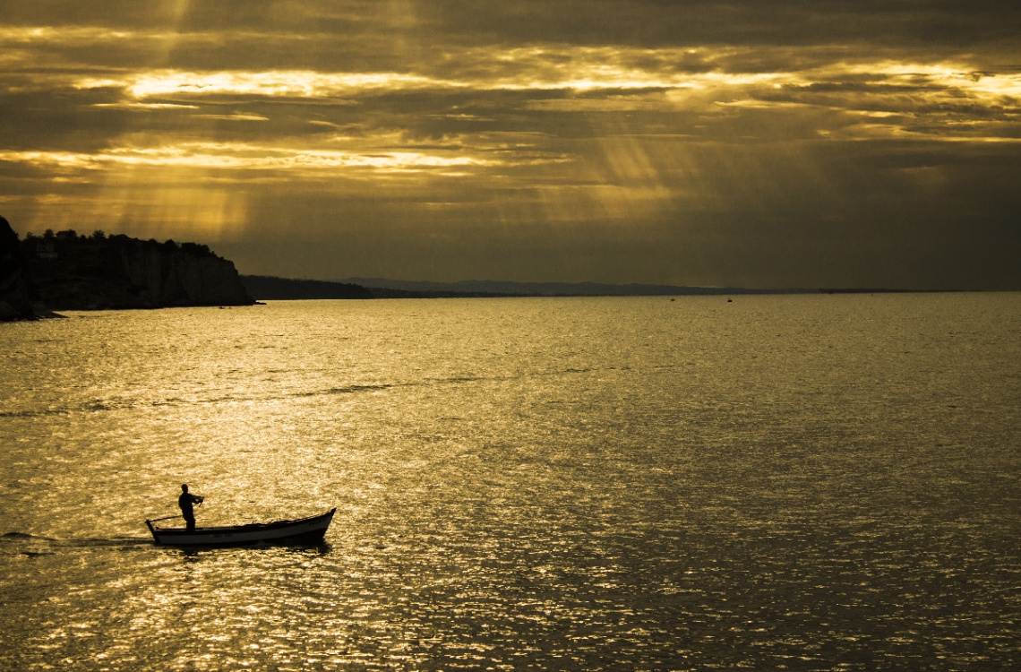
[[[204,245],[61,232],[21,243],[32,298],[51,310],[251,305],[234,263]]]

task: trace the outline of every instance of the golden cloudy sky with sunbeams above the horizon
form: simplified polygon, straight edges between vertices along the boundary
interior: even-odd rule
[[[320,280],[1021,289],[1016,0],[0,0],[0,214]]]

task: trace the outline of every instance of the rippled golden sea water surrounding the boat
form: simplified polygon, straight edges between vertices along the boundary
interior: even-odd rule
[[[0,669],[1021,668],[1021,294],[0,325]],[[185,551],[337,507],[321,545]]]

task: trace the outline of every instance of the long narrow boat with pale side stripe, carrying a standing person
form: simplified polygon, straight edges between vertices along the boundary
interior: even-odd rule
[[[297,520],[282,520],[272,523],[249,523],[247,525],[229,525],[225,527],[196,527],[188,531],[183,527],[158,527],[153,523],[160,520],[147,520],[145,524],[152,532],[156,543],[172,546],[242,546],[252,544],[287,544],[308,543],[320,541],[330,527],[333,514],[331,509],[325,514],[299,518]],[[174,518],[180,518],[175,516]]]

